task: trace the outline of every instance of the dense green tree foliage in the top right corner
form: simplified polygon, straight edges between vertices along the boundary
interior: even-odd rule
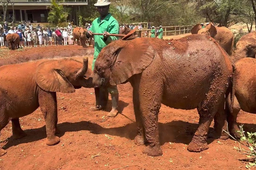
[[[250,27],[255,18],[252,2],[255,0],[190,0],[189,2],[193,2],[201,16],[209,22],[226,27],[243,22],[251,31]]]

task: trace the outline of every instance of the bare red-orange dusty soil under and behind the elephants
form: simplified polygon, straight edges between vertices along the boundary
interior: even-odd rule
[[[5,52],[9,58],[39,54],[49,57],[89,54],[91,49],[53,46]],[[57,93],[61,141],[55,146],[45,144],[45,122],[39,109],[20,118],[22,129],[27,133],[25,138],[14,140],[9,123],[1,131],[0,145],[7,154],[0,157],[0,169],[245,169],[245,163],[237,160],[245,155],[234,149],[239,145],[231,139],[209,139],[209,149],[199,153],[187,150],[197,128],[196,109],[185,111],[162,105],[158,125],[163,156],[142,154],[145,146],[133,142],[136,124],[132,87],[126,83],[118,89],[121,113],[115,118],[108,118],[105,111],[90,111],[95,100],[93,89],[78,89],[74,94]],[[109,100],[107,111],[110,103]],[[253,114],[241,112],[238,116],[238,122],[244,124],[246,131],[256,131],[254,120]]]

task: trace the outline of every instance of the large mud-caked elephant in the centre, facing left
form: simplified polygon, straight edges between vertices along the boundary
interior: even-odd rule
[[[199,127],[189,151],[208,148],[207,132],[215,115],[214,128],[221,133],[232,67],[228,55],[213,41],[204,35],[178,40],[137,38],[115,41],[102,49],[95,62],[93,83],[131,83],[138,131],[134,142],[148,144],[143,153],[162,155],[157,126],[161,103],[179,109],[197,108]]]

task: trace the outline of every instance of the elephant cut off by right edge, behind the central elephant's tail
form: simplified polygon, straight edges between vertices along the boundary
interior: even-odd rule
[[[235,137],[239,138],[237,132],[237,114],[242,109],[245,112],[256,113],[256,59],[255,58],[242,58],[234,65],[234,80],[233,80],[233,93],[234,106],[233,112],[228,109],[228,128],[229,132]],[[227,107],[230,108],[230,100],[228,100]],[[228,136],[226,136],[228,138]]]

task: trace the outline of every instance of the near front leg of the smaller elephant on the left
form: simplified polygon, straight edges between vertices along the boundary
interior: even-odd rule
[[[45,119],[46,145],[55,145],[60,142],[60,138],[55,136],[58,122],[56,92],[47,92],[40,89],[38,101]]]

